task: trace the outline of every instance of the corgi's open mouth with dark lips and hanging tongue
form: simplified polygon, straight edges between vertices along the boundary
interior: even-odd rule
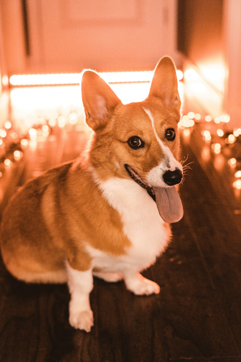
[[[175,223],[181,220],[183,216],[183,207],[181,199],[175,186],[150,187],[143,182],[141,177],[129,165],[125,164],[125,169],[132,180],[146,189],[147,193],[156,202],[156,207],[161,218],[168,223]]]

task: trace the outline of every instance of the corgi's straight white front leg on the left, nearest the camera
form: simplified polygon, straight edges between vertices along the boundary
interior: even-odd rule
[[[68,287],[70,292],[69,323],[74,328],[90,332],[94,325],[93,312],[90,308],[90,292],[93,289],[92,269],[79,271],[66,263]]]

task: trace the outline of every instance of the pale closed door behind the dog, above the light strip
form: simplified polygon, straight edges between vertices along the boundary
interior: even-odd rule
[[[152,69],[176,56],[176,0],[26,0],[30,72]]]

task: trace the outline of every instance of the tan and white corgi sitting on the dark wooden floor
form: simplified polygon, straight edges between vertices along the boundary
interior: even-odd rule
[[[93,275],[158,294],[140,272],[167,247],[183,208],[177,123],[181,101],[171,58],[157,64],[146,100],[123,105],[94,71],[82,75],[86,123],[94,131],[76,160],[26,183],[1,225],[9,272],[28,283],[68,283],[69,323],[91,330]]]

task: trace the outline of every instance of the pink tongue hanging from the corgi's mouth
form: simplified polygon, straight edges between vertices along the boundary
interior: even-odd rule
[[[167,223],[176,223],[181,220],[183,207],[175,186],[168,188],[153,187],[153,190],[161,218]]]

